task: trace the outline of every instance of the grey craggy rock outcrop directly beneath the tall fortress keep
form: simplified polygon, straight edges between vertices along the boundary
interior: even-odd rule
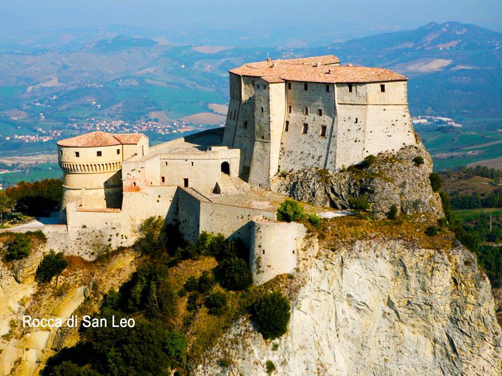
[[[413,159],[422,156],[417,166]],[[383,218],[392,205],[405,214],[433,213],[441,215],[441,201],[432,192],[429,174],[432,158],[421,142],[405,146],[395,153],[376,156],[366,168],[351,167],[332,172],[305,169],[295,173],[281,172],[271,181],[271,190],[317,206],[348,209],[349,199],[364,196],[376,218]]]

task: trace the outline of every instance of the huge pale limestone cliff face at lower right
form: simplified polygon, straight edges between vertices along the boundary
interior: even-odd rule
[[[299,254],[289,331],[265,341],[234,323],[195,375],[409,376],[502,374],[490,285],[458,245],[421,249],[365,240]],[[218,365],[230,359],[229,367]]]

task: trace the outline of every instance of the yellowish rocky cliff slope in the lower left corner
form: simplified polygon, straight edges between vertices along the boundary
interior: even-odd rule
[[[116,288],[135,270],[136,255],[130,251],[95,263],[69,256],[69,265],[57,280],[39,285],[35,272],[47,251],[41,244],[24,260],[0,260],[0,376],[39,374],[50,356],[79,338],[77,328],[23,328],[24,314],[81,318],[81,312],[97,308],[93,297]]]

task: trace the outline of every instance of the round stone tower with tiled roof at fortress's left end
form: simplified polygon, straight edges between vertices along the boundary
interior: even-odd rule
[[[63,213],[75,201],[83,209],[121,207],[123,145],[117,138],[92,132],[60,140],[57,145],[63,170]]]

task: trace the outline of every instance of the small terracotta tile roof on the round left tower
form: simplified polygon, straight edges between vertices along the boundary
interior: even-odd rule
[[[59,140],[59,146],[68,147],[100,147],[113,146],[121,144],[136,144],[139,142],[143,133],[107,133],[95,131],[81,134],[79,136]]]

